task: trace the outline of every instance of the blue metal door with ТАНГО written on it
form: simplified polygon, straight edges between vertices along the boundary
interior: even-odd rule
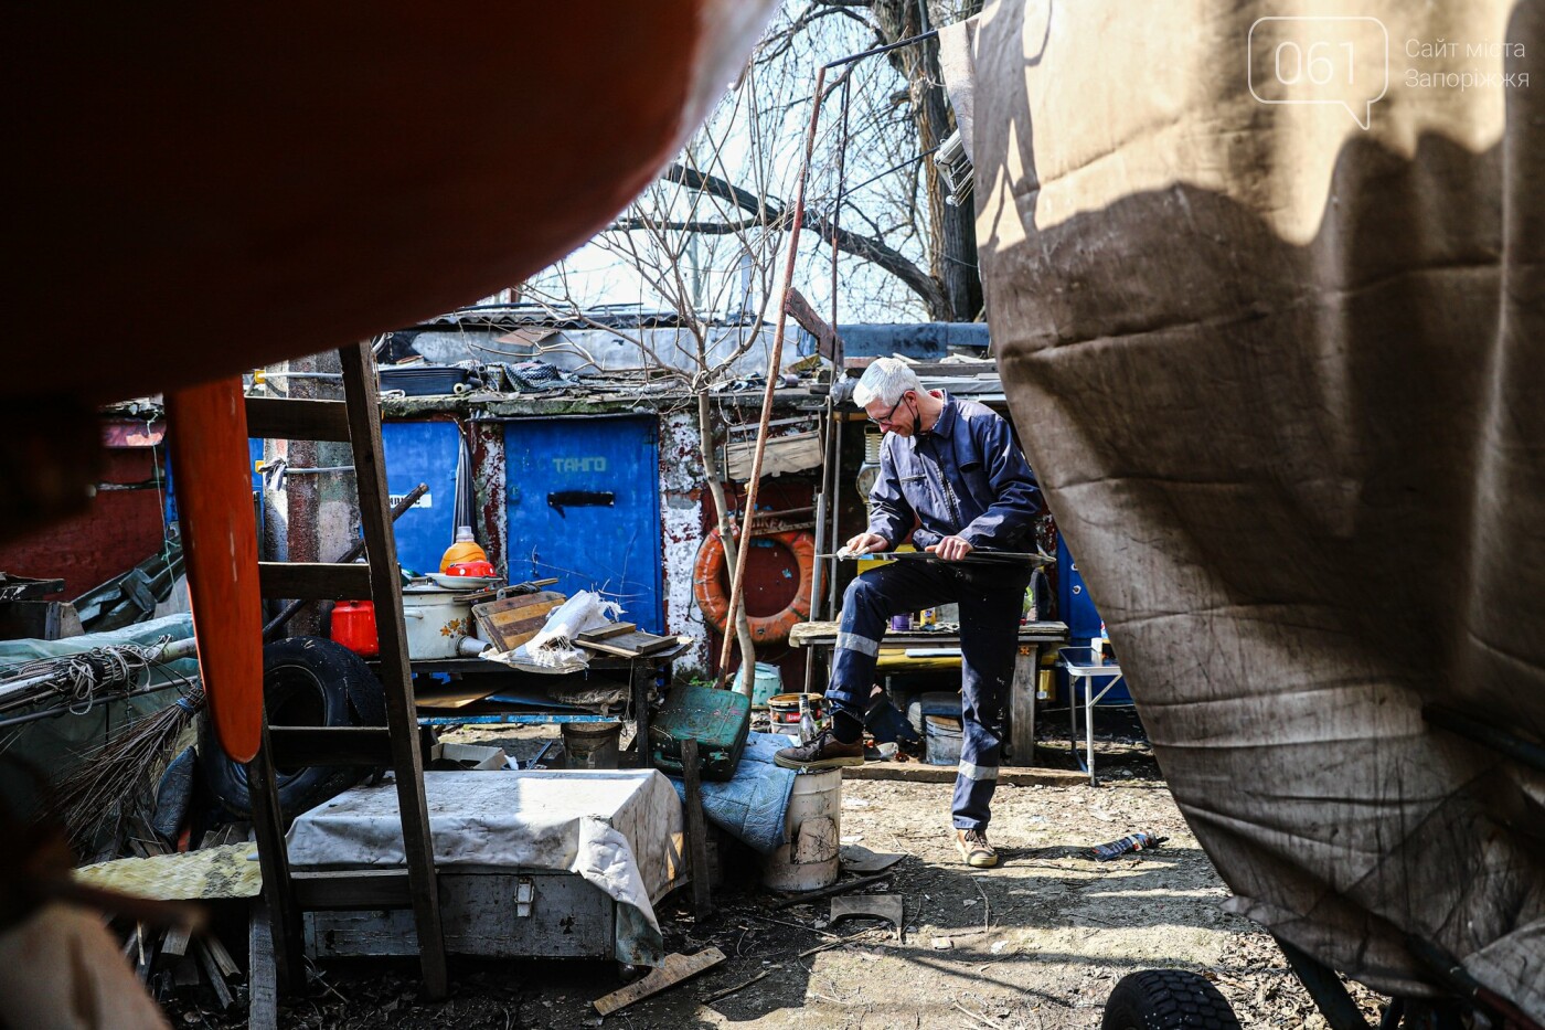
[[[504,433],[510,580],[599,591],[664,631],[660,441],[652,418],[521,419]]]

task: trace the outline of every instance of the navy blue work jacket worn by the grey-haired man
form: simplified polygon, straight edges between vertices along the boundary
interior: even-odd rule
[[[952,535],[989,551],[1034,549],[1041,492],[1009,424],[975,401],[941,396],[944,411],[932,430],[885,433],[868,530],[891,547],[916,524],[919,551]]]

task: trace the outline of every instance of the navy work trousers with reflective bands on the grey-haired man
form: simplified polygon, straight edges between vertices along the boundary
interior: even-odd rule
[[[955,775],[956,829],[986,829],[998,786],[1003,702],[1014,682],[1020,614],[1029,566],[893,561],[859,575],[842,595],[842,625],[827,697],[862,721],[874,660],[891,616],[958,603],[961,608],[961,761]]]

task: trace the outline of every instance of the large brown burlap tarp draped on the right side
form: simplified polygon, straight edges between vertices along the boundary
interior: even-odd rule
[[[1279,102],[1326,97],[1282,42],[1353,99]],[[975,43],[1014,416],[1238,909],[1545,1019],[1545,776],[1423,719],[1545,738],[1540,6],[1009,0]]]

